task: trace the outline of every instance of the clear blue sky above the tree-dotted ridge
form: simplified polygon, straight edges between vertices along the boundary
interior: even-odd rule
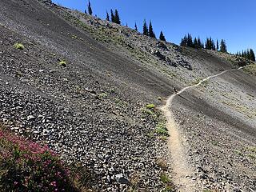
[[[53,0],[62,6],[84,11],[87,0]],[[235,53],[252,48],[256,51],[255,0],[90,0],[93,14],[106,18],[106,10],[118,9],[123,25],[142,31],[143,20],[151,20],[154,32],[160,30],[168,42],[179,44],[186,33],[202,39],[225,39]]]

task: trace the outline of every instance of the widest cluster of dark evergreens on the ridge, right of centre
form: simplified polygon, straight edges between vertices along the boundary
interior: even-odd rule
[[[227,52],[226,42],[222,39],[221,46],[219,49],[218,39],[215,44],[212,38],[206,38],[206,43],[202,42],[201,38],[192,38],[191,34],[186,34],[180,43],[181,46],[190,46],[196,49],[206,49],[206,50],[219,50],[223,53]]]

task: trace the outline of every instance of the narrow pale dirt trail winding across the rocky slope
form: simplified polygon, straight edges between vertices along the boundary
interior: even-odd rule
[[[166,116],[166,128],[169,131],[170,137],[168,141],[168,148],[171,154],[171,168],[172,168],[172,177],[174,180],[174,185],[177,186],[178,191],[200,191],[197,186],[196,179],[193,178],[194,171],[192,167],[187,162],[186,156],[186,143],[182,138],[182,134],[178,129],[178,124],[174,120],[174,115],[171,111],[172,102],[178,94],[182,94],[186,90],[190,90],[194,87],[200,86],[202,82],[206,82],[211,78],[216,78],[222,74],[233,70],[241,70],[243,67],[238,69],[224,70],[222,73],[211,75],[207,78],[204,78],[202,81],[194,86],[186,86],[182,90],[178,91],[177,94],[172,94],[166,101],[166,105],[162,106],[161,110]]]

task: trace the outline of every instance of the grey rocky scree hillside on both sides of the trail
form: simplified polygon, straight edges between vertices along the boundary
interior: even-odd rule
[[[2,0],[0,34],[0,122],[93,170],[94,191],[175,190],[158,106],[173,86],[249,64],[49,0]],[[232,72],[177,98],[198,191],[256,190],[254,82]]]

